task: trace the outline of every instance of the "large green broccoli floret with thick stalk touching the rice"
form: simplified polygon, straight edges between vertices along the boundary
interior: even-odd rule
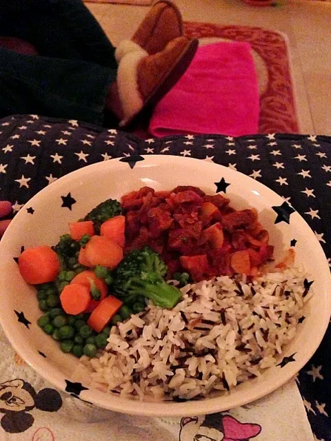
[[[154,305],[173,308],[181,300],[181,291],[165,282],[166,273],[165,263],[152,249],[132,250],[115,271],[114,291],[126,302],[144,296]]]

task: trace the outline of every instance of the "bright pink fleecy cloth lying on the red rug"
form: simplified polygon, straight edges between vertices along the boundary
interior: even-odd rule
[[[153,136],[258,132],[259,90],[249,43],[201,46],[179,82],[157,104]]]

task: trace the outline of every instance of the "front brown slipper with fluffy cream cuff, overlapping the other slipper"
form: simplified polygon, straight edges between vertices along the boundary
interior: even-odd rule
[[[181,79],[198,48],[197,39],[177,37],[165,49],[149,55],[141,50],[126,54],[119,63],[117,87],[124,117],[131,125],[143,110],[154,107]]]

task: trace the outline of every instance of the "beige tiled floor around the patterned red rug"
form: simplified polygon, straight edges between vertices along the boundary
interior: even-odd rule
[[[331,3],[283,0],[254,8],[241,0],[176,0],[184,20],[257,25],[288,36],[301,133],[331,135]],[[116,45],[129,38],[148,7],[87,3]]]

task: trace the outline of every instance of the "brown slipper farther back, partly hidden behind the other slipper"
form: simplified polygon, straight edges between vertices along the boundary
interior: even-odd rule
[[[117,63],[137,46],[149,55],[157,54],[177,37],[183,36],[181,12],[170,0],[159,0],[150,9],[131,40],[123,40],[117,46]]]

